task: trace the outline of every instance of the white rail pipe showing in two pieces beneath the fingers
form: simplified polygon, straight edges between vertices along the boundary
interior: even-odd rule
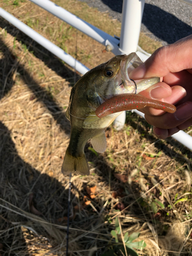
[[[144,118],[144,114],[138,110],[134,110],[133,112],[137,113],[139,116]],[[178,133],[171,136],[172,138],[179,141],[181,144],[192,150],[192,137],[183,131],[179,131]]]

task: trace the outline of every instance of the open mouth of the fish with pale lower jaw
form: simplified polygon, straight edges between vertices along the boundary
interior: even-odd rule
[[[140,93],[153,86],[153,84],[160,82],[159,77],[151,77],[139,80],[130,79],[129,74],[134,69],[139,67],[143,61],[137,56],[136,53],[131,53],[126,57],[127,58],[123,58],[120,63],[122,85],[125,88],[123,93]]]

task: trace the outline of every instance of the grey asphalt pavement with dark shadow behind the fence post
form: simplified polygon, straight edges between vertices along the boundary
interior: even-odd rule
[[[122,20],[122,0],[79,0]],[[192,34],[192,5],[180,0],[146,0],[141,31],[162,45]]]

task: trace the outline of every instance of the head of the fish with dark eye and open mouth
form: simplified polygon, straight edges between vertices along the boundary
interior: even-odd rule
[[[87,91],[90,105],[98,106],[105,100],[119,94],[139,93],[159,82],[159,77],[135,81],[130,79],[131,71],[142,63],[136,53],[131,53],[129,55],[117,55],[92,69],[89,76],[90,88]]]

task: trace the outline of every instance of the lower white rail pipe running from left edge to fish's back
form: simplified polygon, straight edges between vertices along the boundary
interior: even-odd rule
[[[0,8],[0,16],[8,20],[8,22],[13,24],[16,28],[24,32],[26,35],[30,36],[32,39],[38,42],[39,45],[45,47],[58,58],[65,61],[69,66],[77,70],[79,73],[85,74],[89,71],[89,69],[86,66],[82,65],[81,62],[75,60],[71,55],[67,54],[65,51],[54,45],[51,41],[41,36],[39,33],[28,27],[23,22],[20,22],[20,20],[18,20],[2,8]]]

